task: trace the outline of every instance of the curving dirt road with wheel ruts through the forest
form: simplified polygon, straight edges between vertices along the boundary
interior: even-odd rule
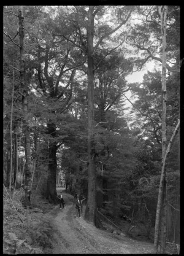
[[[60,189],[61,190],[61,189]],[[59,193],[59,190],[58,190]],[[66,209],[56,206],[47,216],[53,225],[53,249],[45,254],[150,254],[153,245],[99,230],[75,218],[74,197],[63,192]]]

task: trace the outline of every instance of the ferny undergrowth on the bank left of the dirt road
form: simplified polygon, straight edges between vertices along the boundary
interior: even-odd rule
[[[43,219],[44,214],[42,212],[26,210],[22,204],[24,198],[23,188],[14,192],[4,188],[4,254],[44,254],[45,248],[52,248],[52,226],[48,220]],[[41,204],[39,202],[38,204],[40,209]],[[51,207],[51,205],[47,206],[47,208]]]

